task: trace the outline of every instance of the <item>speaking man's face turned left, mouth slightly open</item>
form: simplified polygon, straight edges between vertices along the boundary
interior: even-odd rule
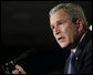
[[[79,36],[78,24],[73,23],[63,10],[51,14],[50,26],[56,42],[62,49],[72,47]]]

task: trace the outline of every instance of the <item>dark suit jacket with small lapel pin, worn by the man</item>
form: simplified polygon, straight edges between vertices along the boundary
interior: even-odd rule
[[[68,61],[64,66],[64,74],[68,69]],[[72,74],[92,74],[92,32],[87,31],[72,58]]]

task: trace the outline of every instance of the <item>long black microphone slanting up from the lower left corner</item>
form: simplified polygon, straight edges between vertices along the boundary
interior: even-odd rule
[[[3,74],[12,74],[11,72],[16,68],[14,65],[20,62],[20,61],[24,61],[28,60],[30,57],[32,57],[34,54],[37,54],[37,50],[34,49],[30,49],[25,52],[23,52],[21,55],[19,55],[17,58],[6,63],[3,66],[1,66],[1,71]]]

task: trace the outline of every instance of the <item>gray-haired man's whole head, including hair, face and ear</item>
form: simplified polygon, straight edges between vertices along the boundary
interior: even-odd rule
[[[74,49],[87,30],[82,8],[78,4],[61,3],[54,7],[49,14],[50,26],[56,42],[63,49]]]

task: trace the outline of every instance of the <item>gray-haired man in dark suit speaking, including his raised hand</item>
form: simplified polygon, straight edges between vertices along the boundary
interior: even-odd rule
[[[49,14],[56,42],[62,49],[73,52],[72,60],[68,57],[65,62],[64,74],[92,74],[92,32],[87,28],[82,8],[78,4],[61,3]],[[13,74],[25,73],[19,65],[16,68]]]

